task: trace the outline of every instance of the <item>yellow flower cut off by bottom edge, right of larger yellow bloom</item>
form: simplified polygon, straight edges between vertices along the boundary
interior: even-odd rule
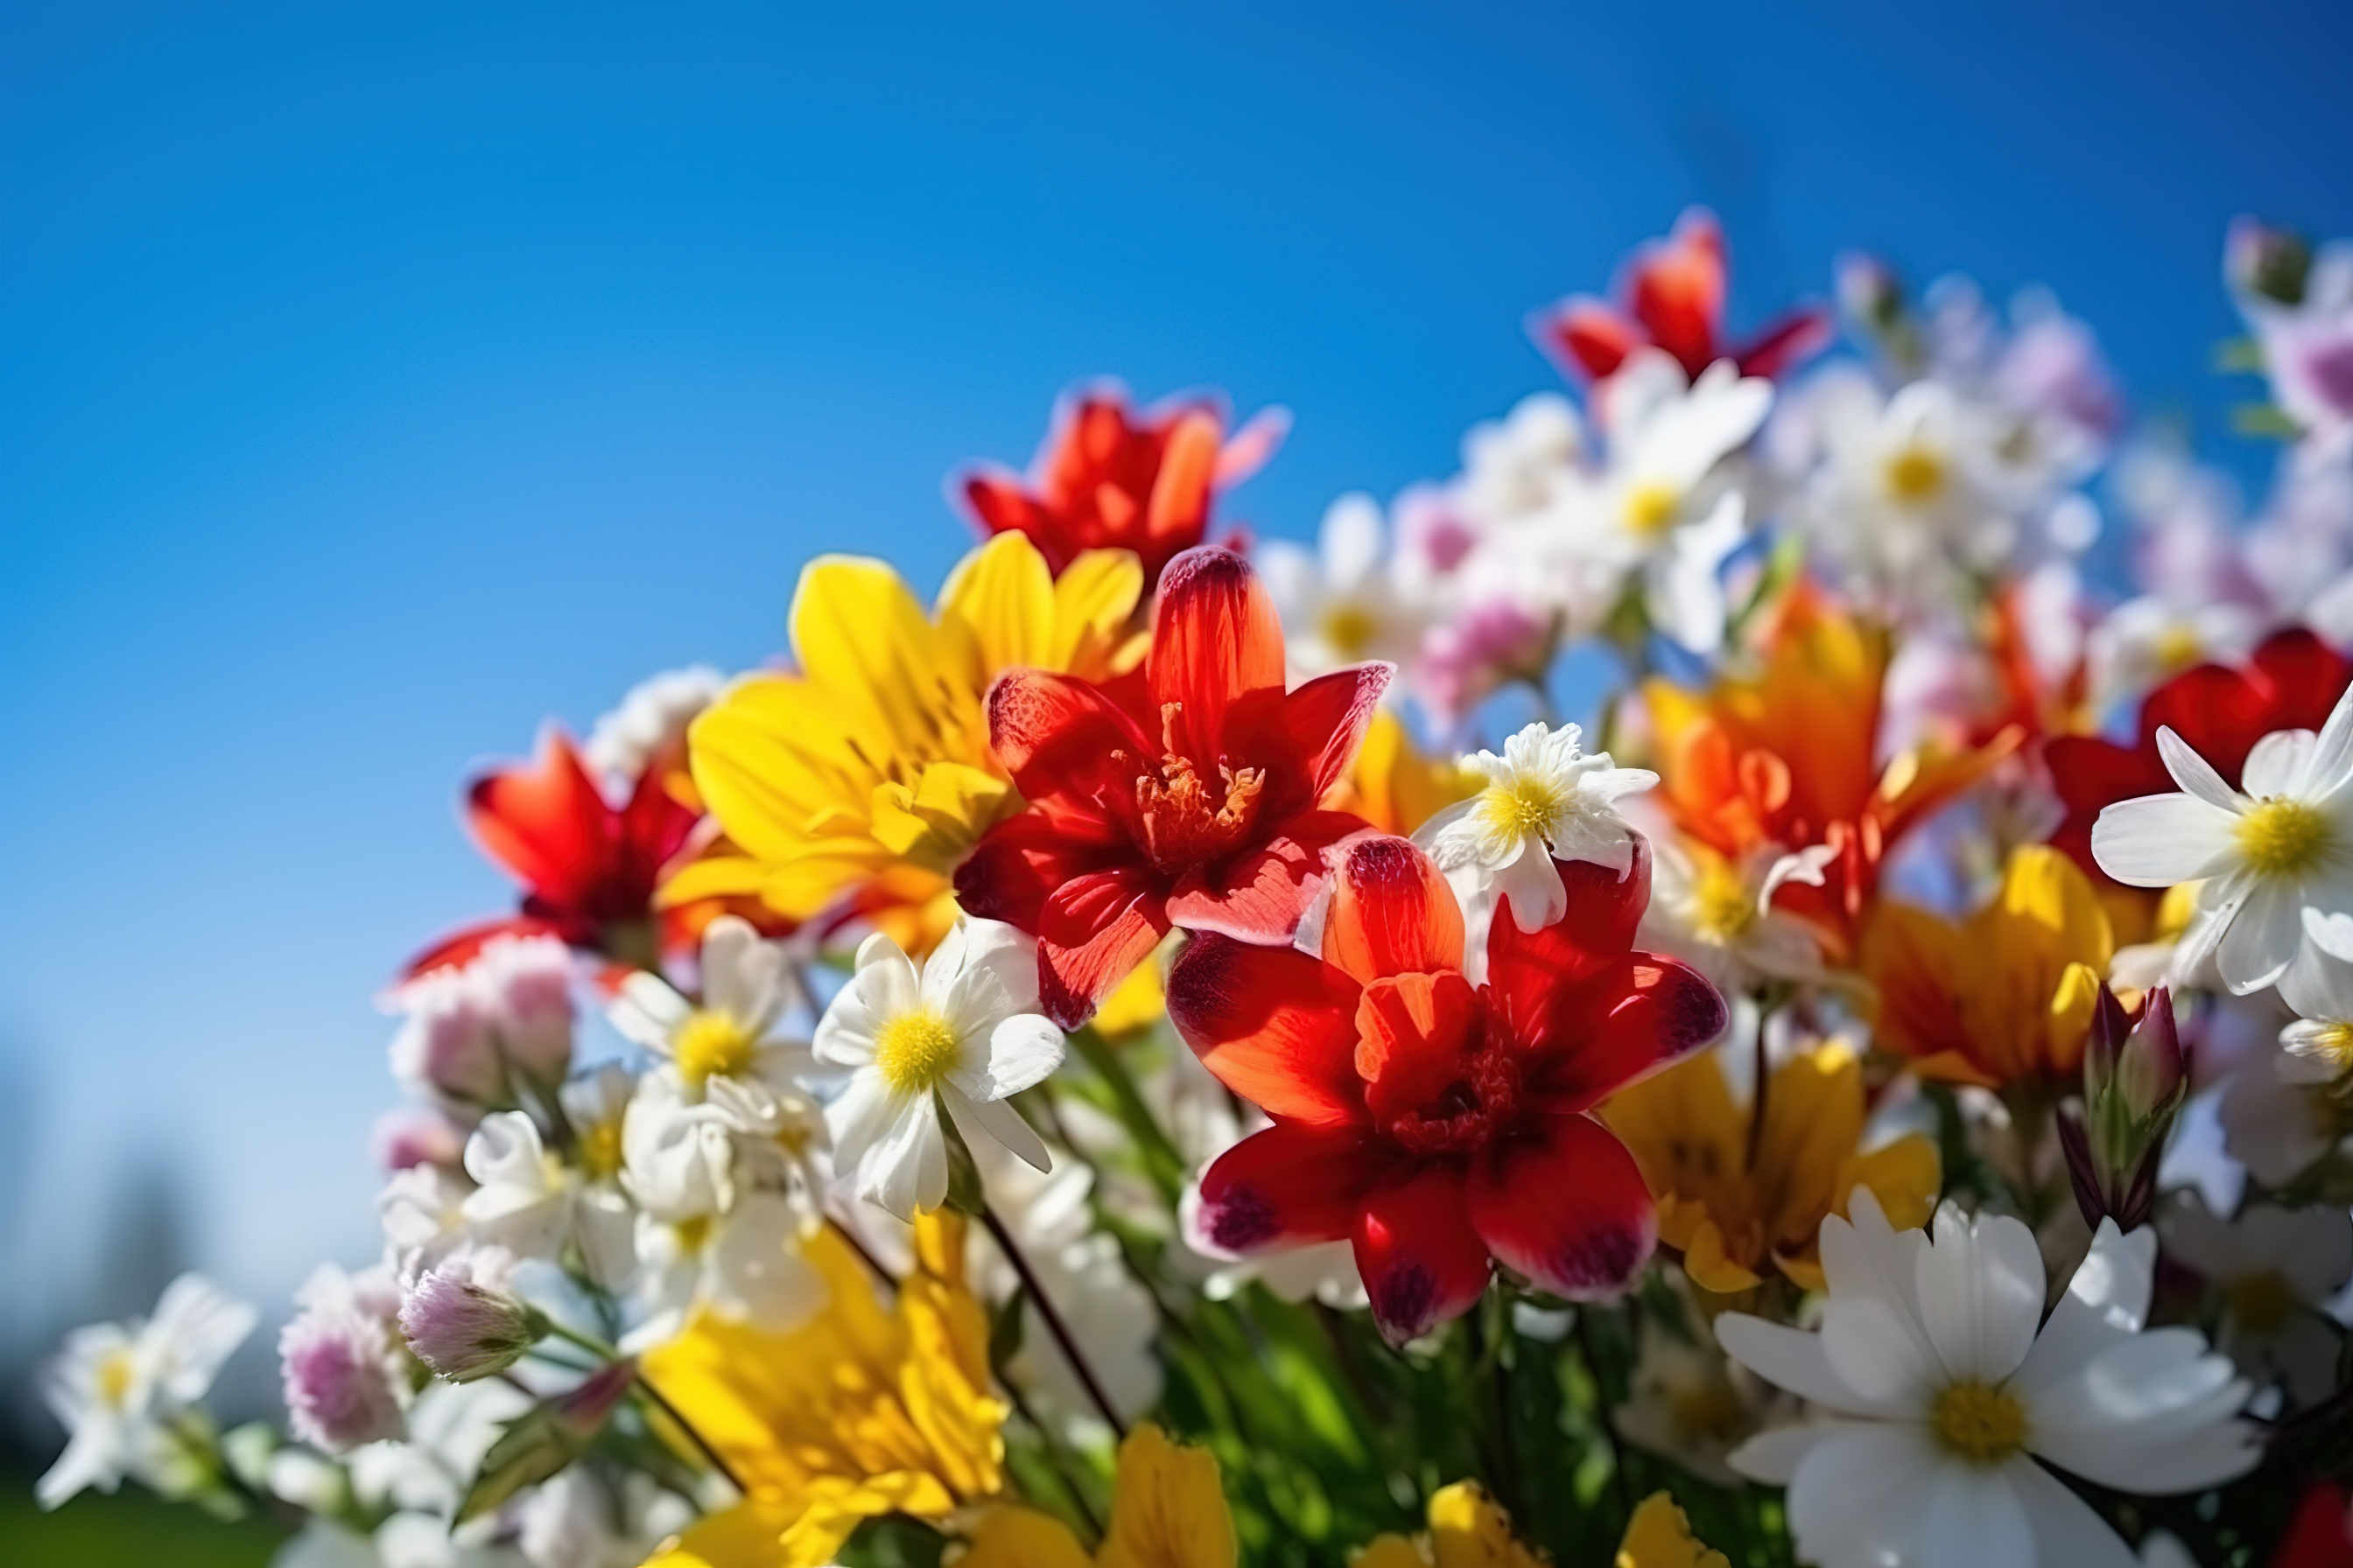
[[[1233,1568],[1233,1512],[1217,1455],[1136,1427],[1120,1443],[1111,1530],[1089,1559],[1059,1519],[991,1509],[960,1568]]]

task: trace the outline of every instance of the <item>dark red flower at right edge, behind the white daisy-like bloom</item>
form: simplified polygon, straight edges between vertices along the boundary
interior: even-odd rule
[[[2115,745],[2097,736],[2059,736],[2042,757],[2066,806],[2052,844],[2092,877],[2092,823],[2101,809],[2139,795],[2172,795],[2174,776],[2158,757],[2158,729],[2172,729],[2214,764],[2231,788],[2254,743],[2275,729],[2320,729],[2353,682],[2353,663],[2297,628],[2264,639],[2242,670],[2198,665],[2160,684],[2141,703],[2141,736]]]

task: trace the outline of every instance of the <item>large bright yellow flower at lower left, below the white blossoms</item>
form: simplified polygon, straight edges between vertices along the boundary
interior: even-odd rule
[[[894,1309],[835,1232],[805,1255],[833,1291],[807,1328],[699,1316],[645,1356],[647,1380],[746,1490],[647,1568],[816,1568],[866,1519],[946,1519],[1002,1490],[1005,1406],[988,1394],[962,1220],[915,1222],[915,1272]]]

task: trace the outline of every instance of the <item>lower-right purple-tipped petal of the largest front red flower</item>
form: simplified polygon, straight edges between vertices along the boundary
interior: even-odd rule
[[[1586,1117],[1560,1117],[1471,1166],[1471,1220],[1506,1267],[1565,1295],[1621,1295],[1659,1244],[1633,1154]]]

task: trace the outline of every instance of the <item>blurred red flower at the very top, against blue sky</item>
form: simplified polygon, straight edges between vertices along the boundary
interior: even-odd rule
[[[1675,355],[1694,378],[1718,360],[1732,360],[1744,376],[1779,376],[1831,343],[1831,313],[1819,306],[1791,310],[1746,343],[1725,341],[1725,233],[1706,207],[1687,209],[1675,233],[1640,247],[1617,292],[1624,308],[1572,294],[1539,310],[1527,331],[1562,369],[1595,381],[1645,343]]]

